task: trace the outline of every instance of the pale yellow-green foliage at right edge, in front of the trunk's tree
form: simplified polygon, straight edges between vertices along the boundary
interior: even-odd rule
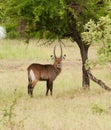
[[[90,20],[84,25],[82,33],[83,41],[87,44],[101,43],[98,50],[100,60],[109,61],[111,59],[111,19],[110,17],[100,17],[97,22]],[[111,61],[111,60],[110,60]]]

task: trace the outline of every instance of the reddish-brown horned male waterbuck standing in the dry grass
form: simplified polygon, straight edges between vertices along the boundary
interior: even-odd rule
[[[62,60],[65,59],[66,55],[63,56],[62,46],[60,44],[61,55],[60,57],[56,56],[55,53],[56,46],[54,47],[54,56],[51,55],[51,58],[54,60],[53,64],[31,64],[28,70],[28,94],[33,96],[33,89],[38,81],[46,81],[46,96],[50,90],[50,94],[53,92],[53,81],[59,75],[62,69]]]

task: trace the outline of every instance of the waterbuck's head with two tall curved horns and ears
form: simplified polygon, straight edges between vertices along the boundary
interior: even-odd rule
[[[65,59],[66,57],[66,54],[63,55],[63,51],[62,51],[62,45],[60,43],[60,51],[61,51],[61,54],[60,54],[60,57],[57,57],[56,56],[56,46],[54,47],[54,51],[53,51],[53,55],[51,55],[51,59],[54,60],[54,67],[57,68],[57,69],[61,69],[62,67],[62,60]]]

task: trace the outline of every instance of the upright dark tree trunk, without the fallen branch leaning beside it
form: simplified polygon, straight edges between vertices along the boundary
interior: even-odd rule
[[[76,41],[79,49],[80,49],[80,54],[81,54],[81,59],[82,59],[82,87],[85,89],[90,88],[90,79],[87,73],[87,70],[85,68],[85,63],[88,60],[88,49],[89,45],[85,44],[82,41],[81,38],[81,33],[77,30],[77,23],[76,19],[72,15],[70,11],[67,11],[67,15],[71,17],[72,22],[69,23],[69,36]]]

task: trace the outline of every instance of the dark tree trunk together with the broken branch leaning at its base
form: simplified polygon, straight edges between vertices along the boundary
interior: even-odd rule
[[[71,4],[70,4],[70,7],[72,8]],[[68,24],[69,31],[65,36],[71,37],[73,39],[73,41],[76,41],[76,43],[80,49],[80,54],[81,54],[81,59],[82,59],[82,87],[85,89],[89,89],[90,88],[90,79],[91,79],[94,82],[96,82],[97,84],[99,84],[105,90],[111,91],[111,88],[109,86],[107,86],[102,80],[97,79],[94,75],[92,75],[92,73],[90,72],[90,68],[88,70],[86,70],[85,64],[86,64],[86,61],[88,60],[88,49],[89,49],[90,45],[85,44],[82,41],[81,33],[77,29],[77,21],[74,18],[74,15],[72,14],[72,12],[67,10],[67,16],[70,18],[70,20],[68,20],[70,22]]]

